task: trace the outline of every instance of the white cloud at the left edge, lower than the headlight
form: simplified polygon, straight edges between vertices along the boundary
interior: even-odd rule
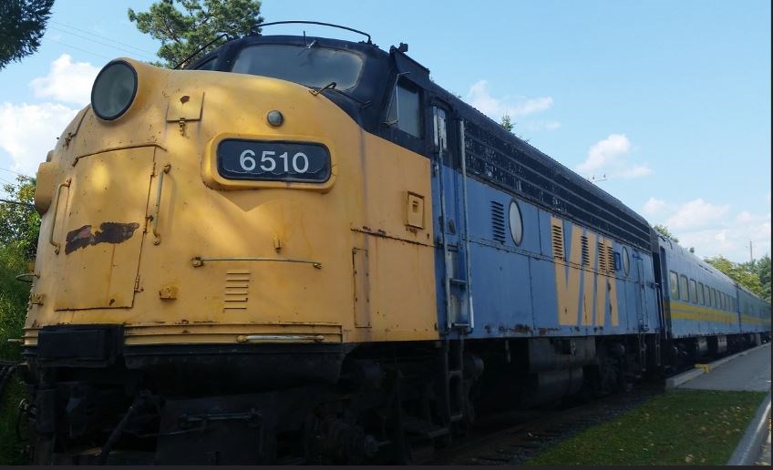
[[[39,105],[0,105],[0,148],[10,154],[13,170],[35,175],[37,166],[46,161],[48,150],[77,114],[77,109],[58,103]]]

